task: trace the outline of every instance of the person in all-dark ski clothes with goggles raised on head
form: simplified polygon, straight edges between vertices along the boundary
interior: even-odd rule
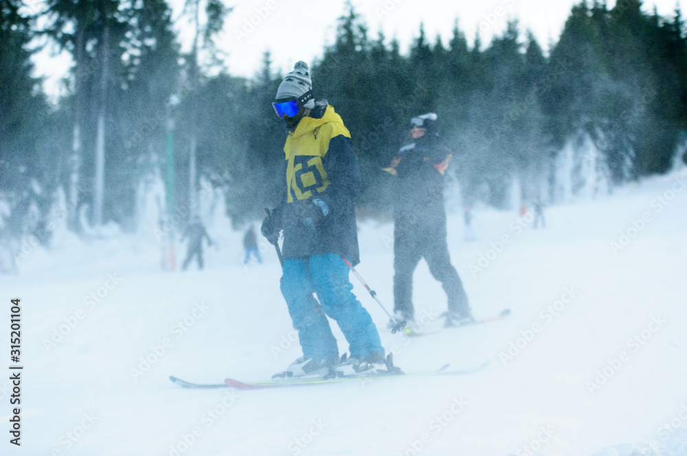
[[[433,112],[413,117],[409,136],[385,171],[394,182],[394,313],[396,320],[412,321],[413,272],[424,258],[429,272],[442,283],[449,310],[444,327],[474,321],[447,245],[444,208],[444,171],[451,152],[439,143],[437,116]],[[392,322],[390,322],[392,324]]]

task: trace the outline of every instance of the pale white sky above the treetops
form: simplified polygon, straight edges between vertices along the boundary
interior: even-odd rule
[[[40,5],[40,0],[29,2]],[[189,47],[192,27],[182,16],[185,0],[168,0],[182,49]],[[387,40],[396,37],[405,52],[418,36],[420,23],[433,43],[437,35],[444,45],[451,38],[458,19],[470,45],[476,33],[486,45],[502,34],[509,19],[518,19],[521,29],[531,29],[543,49],[558,40],[572,5],[579,0],[352,0],[354,8],[370,28],[370,38],[381,30]],[[609,7],[616,1],[609,0]],[[229,73],[252,77],[260,67],[262,53],[271,51],[274,68],[286,73],[297,60],[311,64],[322,56],[325,45],[333,43],[337,18],[345,0],[225,0],[234,10],[218,37]],[[654,6],[659,14],[672,16],[675,6],[683,10],[687,0],[646,0],[644,10]],[[34,8],[39,8],[34,6]],[[36,75],[45,77],[45,91],[55,98],[63,91],[60,80],[73,62],[66,53],[55,56],[49,47],[36,58]]]

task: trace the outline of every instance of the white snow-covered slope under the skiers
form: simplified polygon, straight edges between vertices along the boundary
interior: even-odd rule
[[[216,223],[221,248],[185,273],[161,271],[152,228],[30,249],[19,276],[0,276],[0,453],[687,454],[687,173],[550,207],[546,222],[475,211],[466,243],[462,214],[449,217],[473,313],[510,307],[499,322],[403,339],[354,282],[405,372],[486,369],[239,393],[168,376],[267,379],[300,356],[267,245],[263,265],[244,267],[241,233]],[[392,307],[392,226],[359,228],[359,272]],[[418,315],[445,310],[424,262],[415,283]],[[8,442],[10,298],[23,309],[21,450]]]

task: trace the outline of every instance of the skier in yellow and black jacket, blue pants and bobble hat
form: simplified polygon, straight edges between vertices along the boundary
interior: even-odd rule
[[[283,230],[281,291],[303,350],[303,357],[275,376],[328,378],[391,370],[372,317],[351,291],[342,259],[359,263],[353,200],[361,175],[350,133],[326,100],[315,103],[305,62],[286,75],[273,107],[288,132],[286,192],[261,231],[278,245]],[[339,360],[327,317],[346,337],[348,359]]]

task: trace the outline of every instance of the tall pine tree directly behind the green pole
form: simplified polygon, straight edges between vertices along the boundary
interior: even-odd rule
[[[124,11],[126,36],[124,47],[125,89],[115,99],[115,112],[120,128],[109,132],[113,143],[121,147],[109,151],[114,166],[109,167],[111,182],[128,182],[126,186],[106,186],[108,200],[126,204],[133,215],[135,189],[150,175],[151,167],[161,165],[167,184],[166,210],[174,211],[174,106],[179,97],[179,45],[172,31],[172,12],[164,0],[143,0]],[[168,134],[170,135],[168,137]],[[167,156],[167,140],[171,156]],[[134,171],[135,170],[135,171]],[[168,174],[171,173],[169,176]]]

